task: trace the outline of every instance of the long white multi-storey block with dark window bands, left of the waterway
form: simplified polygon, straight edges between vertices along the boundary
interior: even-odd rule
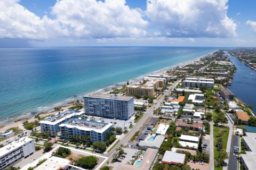
[[[213,79],[204,79],[204,78],[186,78],[182,81],[183,86],[187,87],[202,87],[206,86],[208,88],[213,88],[214,80]]]

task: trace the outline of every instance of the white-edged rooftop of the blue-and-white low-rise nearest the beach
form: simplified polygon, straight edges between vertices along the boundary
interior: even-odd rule
[[[39,123],[56,124],[58,122],[65,120],[66,118],[69,118],[75,115],[81,116],[83,113],[84,112],[82,111],[73,111],[69,109],[62,113],[56,114],[52,117],[46,117],[43,121],[40,121]]]

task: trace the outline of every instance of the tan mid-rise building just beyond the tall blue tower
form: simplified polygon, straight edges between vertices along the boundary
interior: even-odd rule
[[[149,86],[149,83],[143,84],[142,86],[136,86],[136,85],[128,85],[126,86],[126,95],[128,96],[134,96],[136,94],[140,94],[141,96],[148,96],[148,97],[154,97],[156,95],[155,87]]]

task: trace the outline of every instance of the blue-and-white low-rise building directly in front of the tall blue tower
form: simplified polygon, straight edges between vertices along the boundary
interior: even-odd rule
[[[86,120],[70,120],[66,123],[60,124],[59,129],[62,138],[78,138],[91,142],[106,141],[106,134],[110,132],[113,127],[111,123],[102,123]]]

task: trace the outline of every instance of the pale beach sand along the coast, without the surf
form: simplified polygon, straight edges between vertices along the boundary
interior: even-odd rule
[[[180,64],[178,64],[178,65],[174,65],[174,66],[171,66],[171,67],[167,67],[167,68],[165,68],[165,69],[162,69],[162,70],[160,70],[160,71],[155,71],[155,72],[153,72],[153,73],[154,73],[154,74],[164,74],[164,73],[166,73],[167,70],[170,70],[170,69],[172,69],[172,68],[174,68],[174,67],[178,67],[178,66],[180,66],[180,67],[181,67],[181,66],[185,66],[185,65],[187,65],[187,64],[189,64],[189,63],[199,61],[201,58],[202,58],[202,56],[195,58],[195,60],[191,60],[191,61],[187,61],[187,62],[184,62],[184,63],[180,63]],[[146,75],[143,75],[143,76],[146,76]],[[130,84],[140,84],[140,81],[142,81],[142,80],[138,80],[138,78],[137,78],[137,79],[130,80],[129,83],[130,83]],[[126,84],[126,83],[125,83],[125,84]],[[121,88],[121,86],[120,86],[120,87],[116,87],[116,88]],[[113,89],[115,89],[115,88],[111,88],[111,89],[107,89],[107,90],[105,90],[105,91],[101,91],[101,93],[103,93],[103,94],[109,94],[109,92],[110,92],[110,91],[113,91]],[[80,100],[81,100],[81,99],[80,99]],[[63,111],[66,111],[66,110],[67,110],[69,107],[71,107],[71,106],[73,106],[73,104],[67,104],[66,106],[63,106],[61,109],[62,109]],[[40,115],[40,117],[47,117],[47,116],[50,116],[50,115],[52,115],[52,114],[55,115],[55,114],[57,114],[57,113],[59,113],[59,112],[55,112],[54,110],[52,110],[52,111],[45,112],[45,113],[39,113],[39,115]],[[34,115],[33,117],[20,118],[19,121],[13,120],[12,122],[6,122],[6,124],[3,124],[3,125],[0,126],[0,132],[5,132],[6,130],[8,130],[8,129],[10,129],[10,128],[14,128],[14,127],[19,127],[21,130],[26,130],[26,129],[23,128],[23,125],[22,125],[22,122],[23,122],[23,121],[26,121],[26,120],[27,120],[28,122],[32,122],[32,121],[37,120],[37,118],[35,118],[35,115]],[[15,122],[15,121],[16,121],[16,122]]]

